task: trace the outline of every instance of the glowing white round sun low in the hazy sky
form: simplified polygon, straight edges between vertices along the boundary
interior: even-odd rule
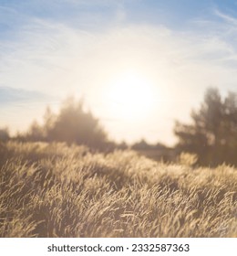
[[[139,73],[124,73],[109,82],[107,101],[109,112],[115,118],[144,119],[152,111],[154,89]]]

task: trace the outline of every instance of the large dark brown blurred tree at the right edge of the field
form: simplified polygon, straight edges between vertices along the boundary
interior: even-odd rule
[[[217,89],[208,89],[191,119],[191,124],[175,123],[178,151],[198,155],[200,165],[237,165],[237,94],[230,92],[222,100]]]

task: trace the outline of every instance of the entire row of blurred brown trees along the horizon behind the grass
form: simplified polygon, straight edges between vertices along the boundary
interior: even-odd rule
[[[220,91],[209,88],[199,110],[191,112],[191,123],[176,121],[174,134],[178,143],[174,152],[197,155],[198,165],[215,166],[223,163],[237,165],[237,94],[229,92],[222,98]],[[0,130],[0,141],[10,139],[7,129]],[[56,114],[46,109],[44,123],[32,123],[26,133],[18,133],[20,141],[66,142],[86,144],[96,150],[125,149],[126,143],[116,144],[83,101],[70,98]],[[131,146],[135,150],[166,151],[163,144],[148,144],[141,140]]]

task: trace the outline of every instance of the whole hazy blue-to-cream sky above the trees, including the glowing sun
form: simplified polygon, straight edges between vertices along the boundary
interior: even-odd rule
[[[111,139],[175,144],[208,87],[237,91],[237,1],[0,0],[0,127],[68,96]]]

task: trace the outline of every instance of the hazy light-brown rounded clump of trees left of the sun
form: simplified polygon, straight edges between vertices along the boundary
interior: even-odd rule
[[[65,142],[85,144],[96,150],[112,146],[108,133],[90,111],[86,111],[83,101],[68,98],[58,113],[46,108],[44,123],[34,121],[26,133],[17,135],[21,141]]]

